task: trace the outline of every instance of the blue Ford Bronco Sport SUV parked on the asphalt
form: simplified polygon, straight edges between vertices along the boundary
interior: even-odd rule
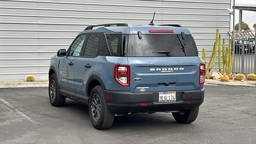
[[[88,105],[97,129],[136,112],[172,112],[191,123],[204,101],[205,73],[188,28],[94,25],[51,58],[49,98],[52,106],[66,98]]]

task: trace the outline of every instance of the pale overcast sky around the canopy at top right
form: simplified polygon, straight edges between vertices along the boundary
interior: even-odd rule
[[[235,4],[236,6],[256,6],[256,0],[235,0]],[[235,24],[237,24],[239,21],[239,10],[236,10],[235,12]],[[256,23],[256,12],[243,10],[242,21],[246,22],[251,30],[254,30],[252,26]],[[233,24],[232,20],[231,23]]]

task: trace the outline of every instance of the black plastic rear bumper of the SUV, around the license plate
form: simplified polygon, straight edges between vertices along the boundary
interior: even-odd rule
[[[115,114],[134,112],[164,112],[193,109],[204,101],[204,88],[198,90],[176,91],[176,102],[158,102],[158,92],[127,92],[104,90],[111,98],[106,98],[108,108]],[[194,102],[188,104],[188,100]],[[141,103],[148,106],[140,106]]]

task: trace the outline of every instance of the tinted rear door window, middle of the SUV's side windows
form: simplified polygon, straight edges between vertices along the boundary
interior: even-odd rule
[[[84,56],[96,57],[99,54],[100,34],[90,34],[84,49]]]

